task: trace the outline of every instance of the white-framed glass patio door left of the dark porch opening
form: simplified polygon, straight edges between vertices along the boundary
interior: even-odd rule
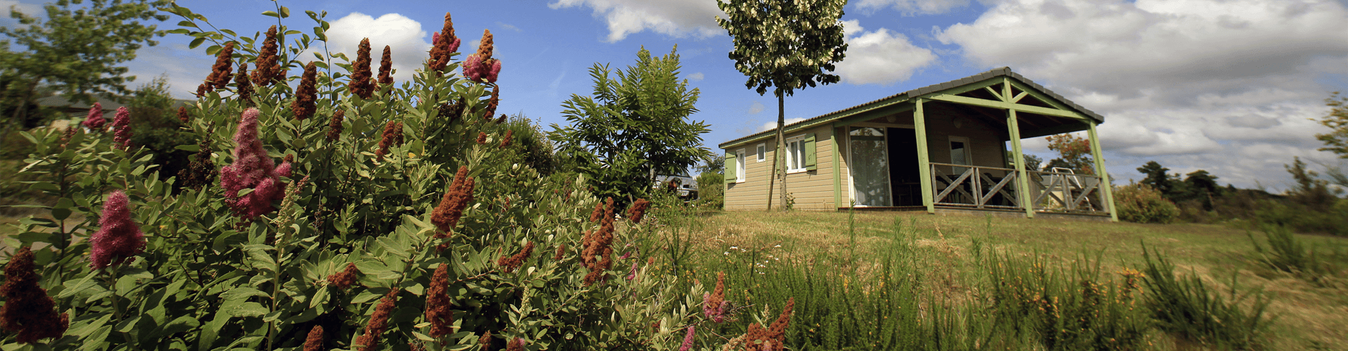
[[[848,140],[852,200],[856,206],[894,206],[884,128],[852,126]]]

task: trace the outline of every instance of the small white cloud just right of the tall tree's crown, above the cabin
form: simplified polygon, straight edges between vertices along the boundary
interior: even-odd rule
[[[891,85],[936,62],[931,50],[914,46],[903,34],[886,28],[865,32],[859,20],[845,20],[842,28],[847,58],[837,63],[836,73],[844,82]]]

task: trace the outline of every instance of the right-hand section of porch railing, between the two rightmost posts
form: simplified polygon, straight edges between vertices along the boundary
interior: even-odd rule
[[[1100,176],[1078,175],[1072,169],[1029,171],[1030,198],[1035,211],[1104,214]]]

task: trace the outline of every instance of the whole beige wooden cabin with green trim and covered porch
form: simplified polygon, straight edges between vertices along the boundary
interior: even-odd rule
[[[1104,117],[1011,71],[919,87],[786,125],[795,210],[915,210],[1117,221]],[[1092,169],[1026,169],[1020,140],[1086,130]],[[725,210],[766,210],[776,130],[721,143]],[[1105,186],[1103,186],[1105,184]],[[774,186],[772,207],[779,186]]]

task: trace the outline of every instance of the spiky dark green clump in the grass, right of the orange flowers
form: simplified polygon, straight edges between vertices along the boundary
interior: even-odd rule
[[[1229,293],[1217,292],[1194,273],[1177,277],[1170,260],[1147,246],[1142,251],[1147,262],[1143,269],[1146,305],[1162,331],[1217,348],[1262,348],[1260,340],[1268,327],[1266,295],[1239,293],[1235,274]],[[1242,305],[1251,299],[1250,311],[1246,311]]]

